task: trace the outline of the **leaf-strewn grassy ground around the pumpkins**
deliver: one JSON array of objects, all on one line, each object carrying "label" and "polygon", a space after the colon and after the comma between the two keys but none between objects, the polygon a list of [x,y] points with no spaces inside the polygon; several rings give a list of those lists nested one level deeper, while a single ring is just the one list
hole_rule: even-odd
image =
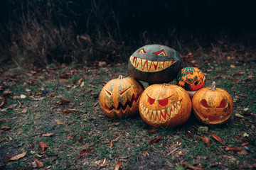
[{"label": "leaf-strewn grassy ground around the pumpkins", "polygon": [[[197,62],[206,74],[206,86],[216,81],[219,88],[230,93],[235,106],[232,120],[225,125],[208,126],[206,132],[200,130],[205,125],[193,115],[185,125],[154,132],[139,116],[107,118],[98,103],[102,84],[119,74],[128,76],[127,64],[87,69],[79,64],[52,64],[48,69],[3,73],[1,102],[6,91],[11,94],[1,108],[0,125],[11,129],[1,130],[1,169],[33,169],[35,159],[43,162],[43,169],[114,169],[117,162],[122,162],[122,169],[252,169],[256,159],[255,60],[251,57],[247,58],[250,62],[243,62],[235,55],[238,62],[219,62],[219,53],[194,54],[206,57]],[[184,64],[190,65],[186,59]],[[68,75],[68,79],[60,79],[63,75]],[[79,86],[80,79],[84,86]],[[21,98],[21,94],[26,98]],[[55,105],[60,99],[70,102]],[[15,106],[8,108],[11,105]],[[63,113],[67,109],[75,111]],[[43,137],[46,133],[54,135]],[[224,144],[210,134],[218,135]],[[159,141],[149,145],[160,136]],[[206,145],[201,137],[208,137],[210,144]],[[113,140],[116,141],[110,146]],[[45,153],[41,153],[38,142],[48,146]],[[226,151],[226,147],[240,148],[241,152]],[[94,150],[78,158],[83,149]],[[4,160],[22,152],[27,154],[21,159]]]}]

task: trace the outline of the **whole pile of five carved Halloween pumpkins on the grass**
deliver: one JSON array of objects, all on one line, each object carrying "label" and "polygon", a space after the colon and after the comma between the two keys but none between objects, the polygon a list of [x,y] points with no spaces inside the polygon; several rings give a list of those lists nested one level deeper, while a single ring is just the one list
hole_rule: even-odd
[{"label": "whole pile of five carved Halloween pumpkins on the grass", "polygon": [[[165,45],[145,45],[129,58],[132,77],[119,76],[100,92],[100,106],[110,118],[141,115],[154,128],[186,123],[193,114],[206,125],[227,122],[233,114],[233,100],[227,91],[203,88],[206,77],[196,67],[183,68],[176,50]],[[169,82],[176,79],[176,84]],[[145,81],[149,86],[139,82]]]}]

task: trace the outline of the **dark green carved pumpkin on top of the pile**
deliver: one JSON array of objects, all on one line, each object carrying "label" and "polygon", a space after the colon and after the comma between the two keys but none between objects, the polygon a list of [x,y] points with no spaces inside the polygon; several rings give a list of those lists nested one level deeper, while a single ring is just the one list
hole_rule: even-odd
[{"label": "dark green carved pumpkin on top of the pile", "polygon": [[183,67],[176,50],[165,45],[145,45],[129,58],[128,70],[134,79],[150,84],[174,80]]}]

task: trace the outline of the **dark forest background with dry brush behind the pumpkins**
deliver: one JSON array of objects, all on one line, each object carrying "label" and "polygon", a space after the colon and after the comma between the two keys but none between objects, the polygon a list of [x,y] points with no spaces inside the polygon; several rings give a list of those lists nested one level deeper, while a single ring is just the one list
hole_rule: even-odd
[{"label": "dark forest background with dry brush behind the pumpkins", "polygon": [[181,54],[213,43],[255,45],[255,7],[253,0],[3,0],[0,63],[127,62],[152,43]]}]

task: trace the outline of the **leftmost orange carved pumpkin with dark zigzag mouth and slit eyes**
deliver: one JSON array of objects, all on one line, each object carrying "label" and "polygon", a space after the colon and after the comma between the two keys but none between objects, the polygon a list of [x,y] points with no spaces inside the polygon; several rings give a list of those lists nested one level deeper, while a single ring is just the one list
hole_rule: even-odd
[{"label": "leftmost orange carved pumpkin with dark zigzag mouth and slit eyes", "polygon": [[112,79],[100,92],[100,107],[110,118],[127,118],[138,113],[144,87],[131,77]]}]

